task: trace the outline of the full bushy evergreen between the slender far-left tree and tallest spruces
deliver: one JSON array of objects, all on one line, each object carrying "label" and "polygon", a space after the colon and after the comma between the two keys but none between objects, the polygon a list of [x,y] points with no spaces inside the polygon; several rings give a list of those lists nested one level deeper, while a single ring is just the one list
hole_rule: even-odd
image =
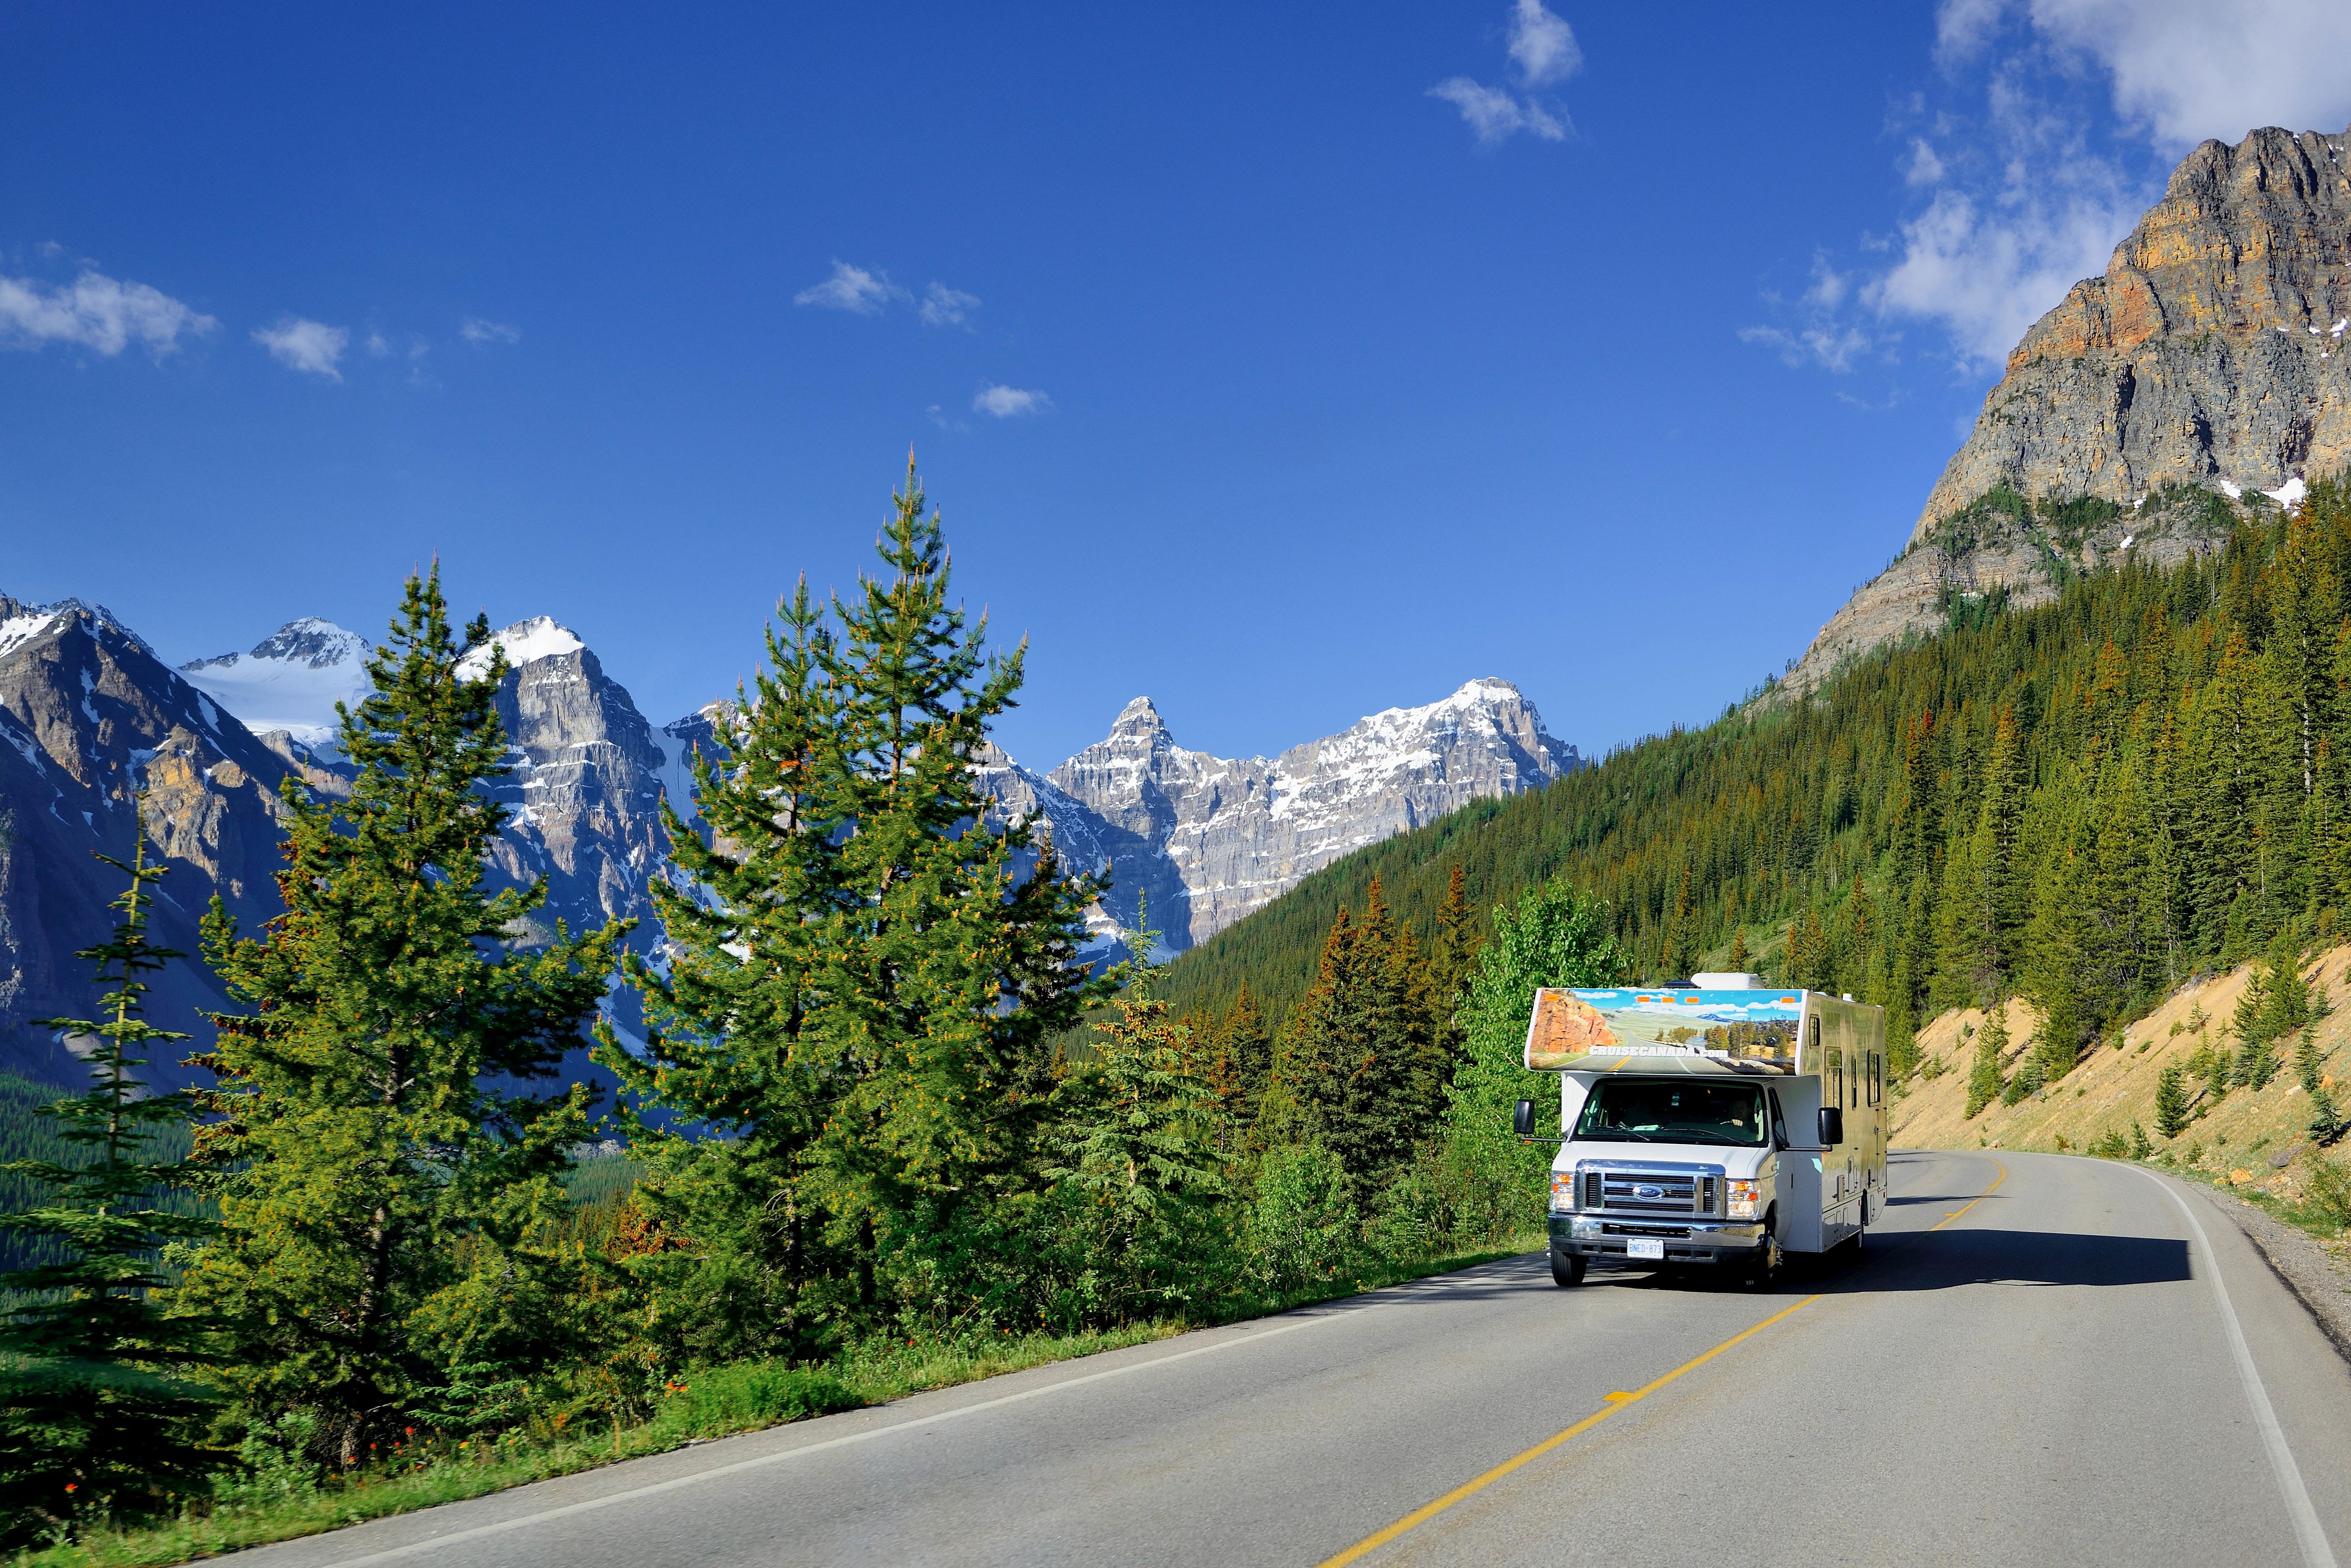
[{"label": "full bushy evergreen between the slender far-left tree and tallest spruces", "polygon": [[501,950],[545,884],[491,893],[505,809],[503,651],[468,677],[440,571],[409,578],[374,691],[346,710],[350,799],[284,785],[287,912],[259,938],[219,898],[205,957],[247,1013],[197,1058],[219,1079],[197,1157],[221,1234],[183,1298],[228,1328],[247,1410],[306,1408],[343,1467],[411,1418],[463,1420],[574,1347],[576,1265],[550,1251],[588,1088],[534,1093],[595,1016],[625,924]]}]

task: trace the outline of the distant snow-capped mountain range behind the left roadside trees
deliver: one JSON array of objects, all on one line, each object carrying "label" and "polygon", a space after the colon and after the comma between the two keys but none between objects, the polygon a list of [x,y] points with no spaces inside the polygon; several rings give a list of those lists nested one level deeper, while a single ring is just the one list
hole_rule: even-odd
[{"label": "distant snow-capped mountain range behind the left roadside trees", "polygon": [[[637,917],[635,940],[656,943],[647,889],[668,865],[661,799],[691,818],[691,748],[710,741],[724,703],[656,731],[557,621],[517,621],[494,642],[510,663],[498,712],[513,745],[496,875],[548,879],[543,933],[555,919]],[[303,618],[245,654],[174,670],[103,607],[0,597],[0,1067],[71,1077],[66,1046],[28,1020],[87,1009],[73,950],[103,936],[118,891],[89,851],[129,853],[141,785],[172,865],[160,940],[193,954],[214,891],[247,929],[275,914],[277,785],[296,773],[348,790],[334,705],[367,693],[367,656],[364,637]],[[473,663],[484,668],[487,651]],[[1110,907],[1091,914],[1093,952],[1112,957],[1138,898],[1164,945],[1183,950],[1352,849],[1578,766],[1516,686],[1479,679],[1272,759],[1185,750],[1136,698],[1100,745],[1051,773],[992,752],[983,780],[1004,813],[1039,818],[1065,860],[1112,875]],[[174,964],[155,1001],[167,1027],[223,1004],[195,964]]]}]

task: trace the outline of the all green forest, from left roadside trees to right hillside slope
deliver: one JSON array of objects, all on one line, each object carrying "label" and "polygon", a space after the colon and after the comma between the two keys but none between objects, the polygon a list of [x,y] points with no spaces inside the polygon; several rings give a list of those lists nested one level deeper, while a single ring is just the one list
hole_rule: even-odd
[{"label": "all green forest, from left roadside trees to right hillside slope", "polygon": [[[287,783],[282,917],[216,905],[167,952],[162,870],[120,867],[92,1016],[49,1020],[92,1084],[9,1133],[0,1544],[240,1544],[889,1396],[917,1354],[976,1375],[1521,1244],[1538,985],[1763,969],[1883,1001],[1897,1070],[1935,1011],[2027,997],[2015,1093],[2252,954],[2241,1034],[2283,1039],[2351,893],[2351,496],[2179,491],[2149,501],[2193,520],[2179,567],[1954,597],[1817,691],[1093,976],[1105,884],[976,792],[1020,651],[950,599],[924,505],[910,470],[879,571],[778,607],[696,762],[710,832],[670,816],[658,961],[623,924],[513,943],[545,889],[484,879],[503,661],[463,672],[489,628],[437,576],[346,717],[350,797]],[[2088,517],[1994,494],[1928,548],[1996,512]],[[235,1009],[181,1044],[141,997],[195,961]],[[560,1077],[583,1034],[616,1103]],[[190,1051],[202,1091],[146,1088]]]}]

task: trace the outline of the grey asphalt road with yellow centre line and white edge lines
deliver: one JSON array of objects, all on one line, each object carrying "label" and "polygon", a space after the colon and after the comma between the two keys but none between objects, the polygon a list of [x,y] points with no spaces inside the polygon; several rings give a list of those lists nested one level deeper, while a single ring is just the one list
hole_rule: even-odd
[{"label": "grey asphalt road with yellow centre line and white edge lines", "polygon": [[1516,1258],[237,1561],[2285,1568],[2330,1540],[2351,1373],[2219,1208],[2095,1159],[1895,1154],[1862,1258],[1768,1295]]}]

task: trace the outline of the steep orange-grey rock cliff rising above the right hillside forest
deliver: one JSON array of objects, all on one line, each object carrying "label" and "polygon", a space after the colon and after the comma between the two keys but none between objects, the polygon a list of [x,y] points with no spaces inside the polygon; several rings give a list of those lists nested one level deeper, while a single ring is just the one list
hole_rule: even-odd
[{"label": "steep orange-grey rock cliff rising above the right hillside forest", "polygon": [[[1822,628],[1791,684],[1940,628],[1954,599],[2034,604],[2123,550],[2172,562],[2210,548],[2215,512],[2186,489],[2290,505],[2344,468],[2351,132],[2205,141],[2106,273],[2008,355],[1909,548]],[[2062,512],[2081,501],[2109,505]]]}]

